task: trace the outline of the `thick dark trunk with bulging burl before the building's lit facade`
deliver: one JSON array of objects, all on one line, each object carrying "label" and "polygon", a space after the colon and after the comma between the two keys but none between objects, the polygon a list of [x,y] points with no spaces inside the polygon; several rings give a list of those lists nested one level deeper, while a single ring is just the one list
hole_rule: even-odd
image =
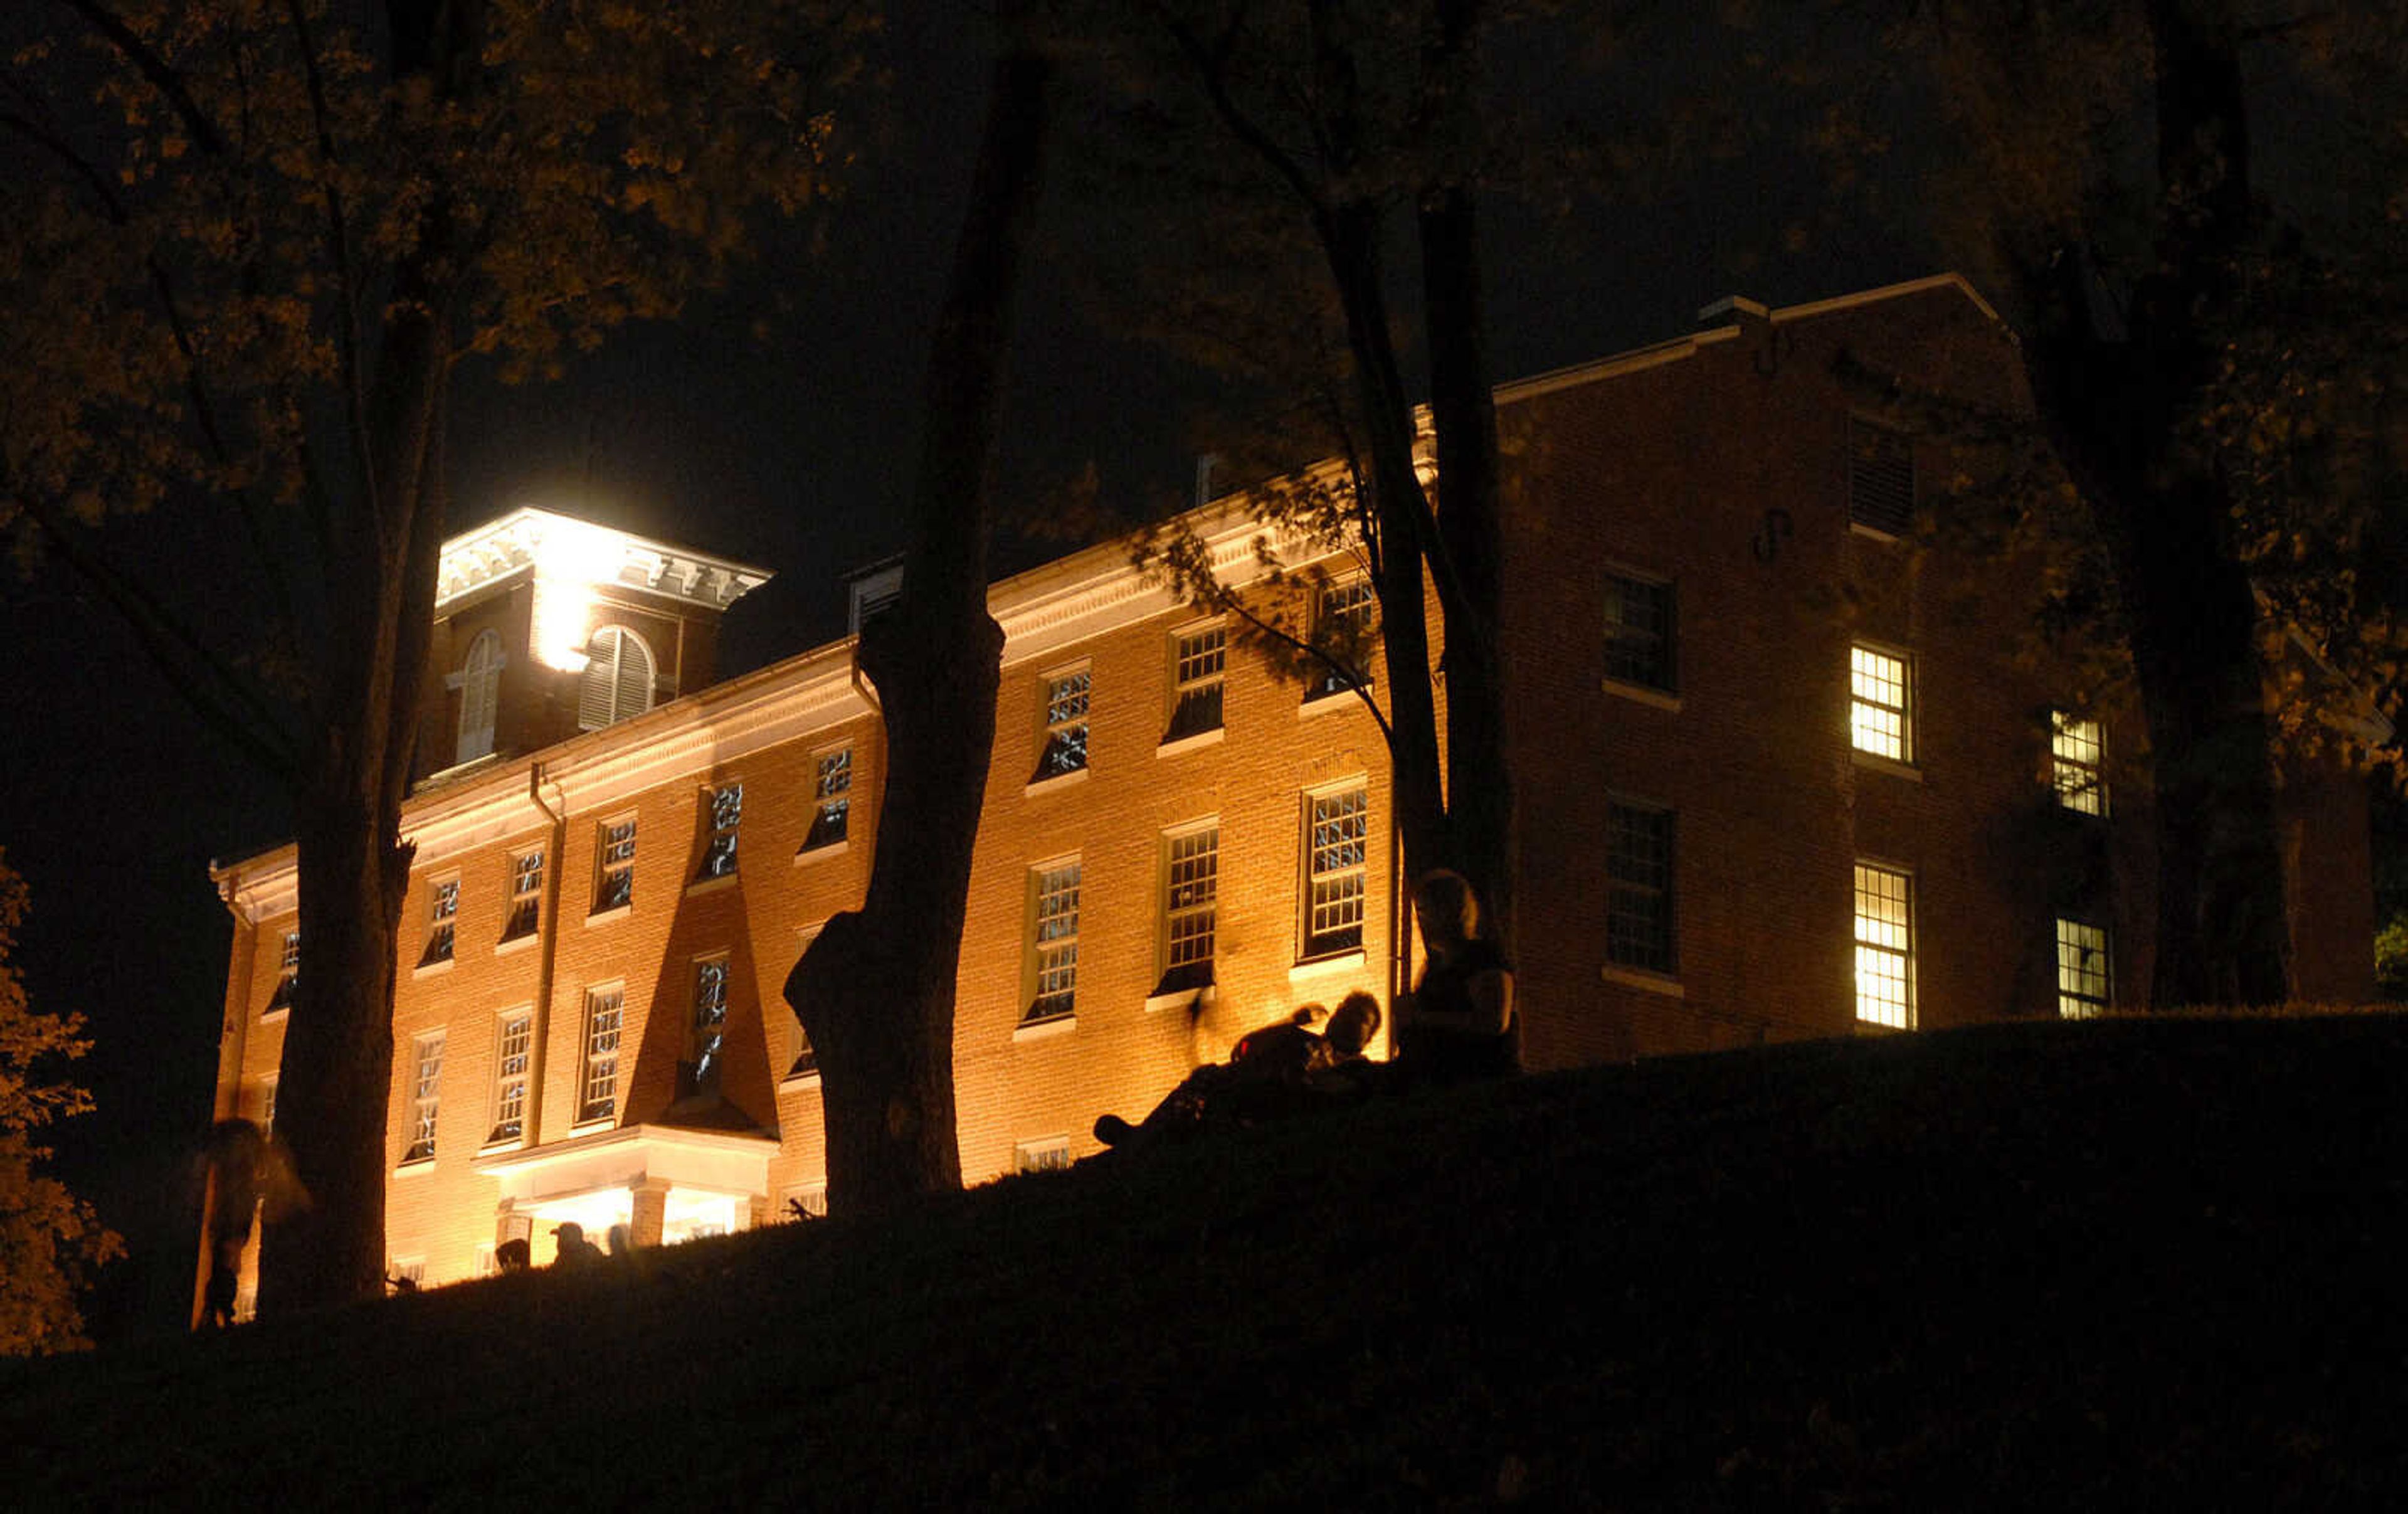
[{"label": "thick dark trunk with bulging burl before the building's lit facade", "polygon": [[1050,65],[1007,19],[929,351],[903,597],[860,645],[889,753],[869,895],[828,922],[785,982],[826,1088],[831,1213],[961,1187],[954,987],[1004,650],[987,614],[987,474],[1043,185],[1047,82]]}]

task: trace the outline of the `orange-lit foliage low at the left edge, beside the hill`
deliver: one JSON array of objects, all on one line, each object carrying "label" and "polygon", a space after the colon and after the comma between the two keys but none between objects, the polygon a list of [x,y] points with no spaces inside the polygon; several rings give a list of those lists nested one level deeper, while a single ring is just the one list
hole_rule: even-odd
[{"label": "orange-lit foliage low at the left edge, beside the hill", "polygon": [[34,1013],[10,956],[26,915],[26,886],[0,852],[0,1355],[92,1346],[77,1295],[125,1242],[89,1203],[39,1167],[39,1131],[92,1112],[92,1095],[58,1076],[92,1049],[82,1016]]}]

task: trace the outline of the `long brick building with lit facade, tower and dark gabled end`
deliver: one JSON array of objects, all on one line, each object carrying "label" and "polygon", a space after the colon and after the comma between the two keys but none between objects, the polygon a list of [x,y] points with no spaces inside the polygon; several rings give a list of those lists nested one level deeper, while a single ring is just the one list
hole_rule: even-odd
[{"label": "long brick building with lit facade, tower and dark gabled end", "polygon": [[[1531,1066],[2114,1004],[2150,970],[2133,720],[2073,712],[2028,655],[2015,563],[1914,546],[1917,477],[1950,460],[1837,375],[1845,354],[2015,407],[2008,337],[1955,277],[1705,315],[1500,390]],[[1243,498],[1194,525],[1267,607],[1365,614],[1344,554],[1262,580]],[[710,681],[718,614],[761,578],[539,513],[445,549],[441,761],[402,818],[400,1273],[474,1276],[508,1237],[544,1261],[561,1220],[674,1242],[816,1206],[819,1078],[780,984],[862,895],[884,751],[850,638]],[[1243,1030],[1411,972],[1358,696],[1274,676],[1120,542],[990,607],[956,1018],[973,1182],[1084,1155],[1098,1112],[1151,1107]],[[2302,780],[2285,804],[2302,987],[2365,999],[2362,792]],[[265,1119],[306,970],[294,852],[217,881],[238,922],[217,1107]]]}]

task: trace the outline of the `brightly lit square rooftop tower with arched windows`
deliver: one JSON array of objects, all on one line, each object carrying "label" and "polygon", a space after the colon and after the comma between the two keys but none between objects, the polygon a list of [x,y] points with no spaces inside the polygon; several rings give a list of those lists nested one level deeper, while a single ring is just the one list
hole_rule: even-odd
[{"label": "brightly lit square rooftop tower with arched windows", "polygon": [[520,508],[443,544],[419,782],[643,715],[715,676],[768,570]]}]

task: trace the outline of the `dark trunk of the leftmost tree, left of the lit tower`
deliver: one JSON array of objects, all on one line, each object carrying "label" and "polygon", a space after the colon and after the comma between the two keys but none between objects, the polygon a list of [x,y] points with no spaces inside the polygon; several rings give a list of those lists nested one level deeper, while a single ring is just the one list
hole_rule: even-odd
[{"label": "dark trunk of the leftmost tree, left of the lit tower", "polygon": [[[395,72],[455,84],[474,60],[472,10],[397,2]],[[436,197],[395,270],[354,486],[327,520],[335,616],[313,667],[320,749],[294,797],[303,936],[277,1081],[277,1139],[303,1199],[260,1249],[262,1314],[385,1285],[393,975],[412,859],[400,818],[443,551],[453,243]]]}]

